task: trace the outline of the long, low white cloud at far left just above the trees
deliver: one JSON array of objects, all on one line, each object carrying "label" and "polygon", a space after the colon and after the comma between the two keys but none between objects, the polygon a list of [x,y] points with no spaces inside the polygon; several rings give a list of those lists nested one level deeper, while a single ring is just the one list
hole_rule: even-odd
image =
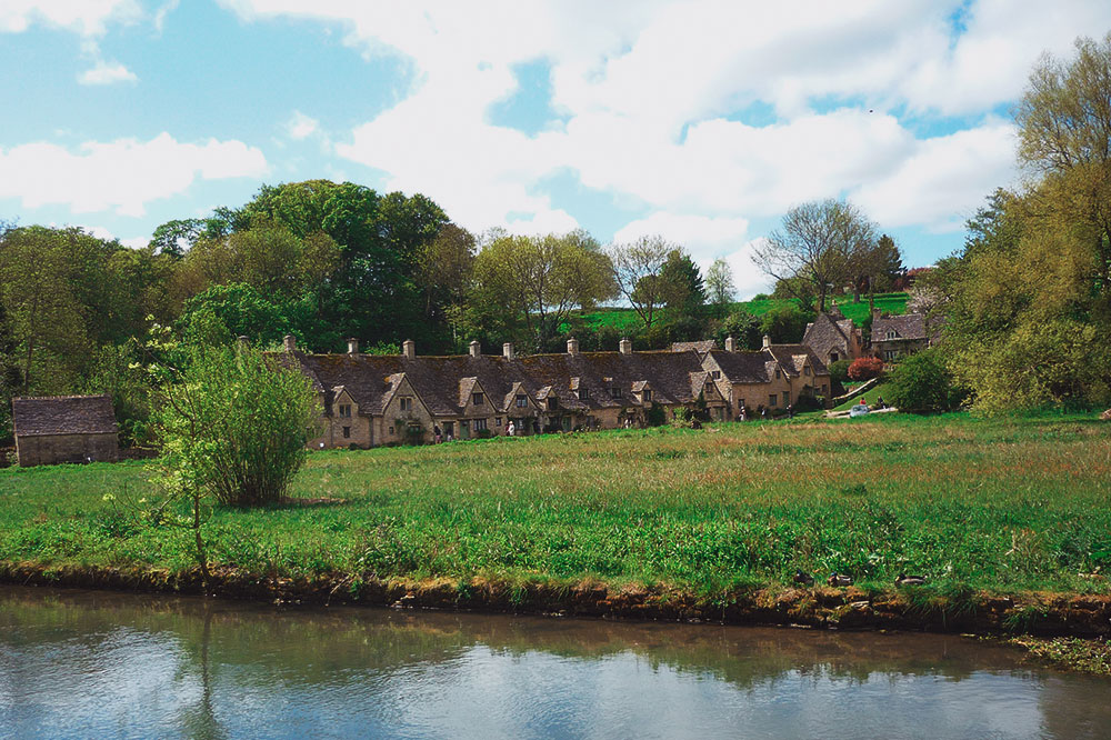
[{"label": "long, low white cloud at far left just above the trees", "polygon": [[60,203],[76,213],[142,216],[148,202],[182,193],[198,178],[266,172],[262,152],[236,140],[182,143],[163,132],[150,141],[87,141],[77,152],[27,143],[0,149],[0,198],[20,199],[24,208]]}]

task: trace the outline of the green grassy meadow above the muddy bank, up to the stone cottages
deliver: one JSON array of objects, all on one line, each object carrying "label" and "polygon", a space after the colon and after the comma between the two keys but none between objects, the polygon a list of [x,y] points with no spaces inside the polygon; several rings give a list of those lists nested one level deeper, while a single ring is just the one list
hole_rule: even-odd
[{"label": "green grassy meadow above the muddy bank, up to the stone cottages", "polygon": [[[188,533],[137,526],[141,463],[0,470],[0,561],[192,567]],[[219,564],[671,586],[713,596],[795,569],[890,587],[1097,591],[1111,571],[1111,424],[890,414],[493,439],[310,456],[294,493],[217,509]],[[106,501],[116,496],[116,502]]]}]

